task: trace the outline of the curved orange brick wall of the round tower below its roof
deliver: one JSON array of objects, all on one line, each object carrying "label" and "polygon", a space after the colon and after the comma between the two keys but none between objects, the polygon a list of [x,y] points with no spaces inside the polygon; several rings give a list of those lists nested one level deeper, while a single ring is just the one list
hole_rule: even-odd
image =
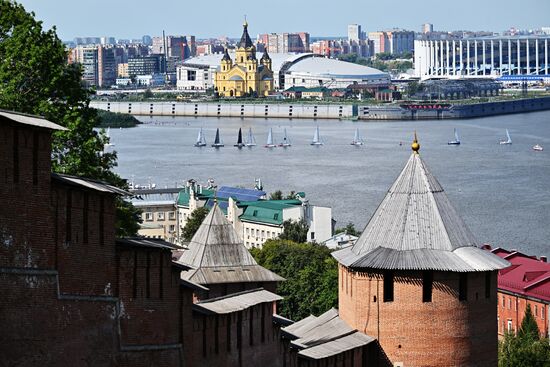
[{"label": "curved orange brick wall of the round tower below its roof", "polygon": [[431,302],[422,273],[395,272],[394,300],[383,301],[381,273],[339,268],[340,317],[377,338],[392,362],[405,366],[496,366],[496,274],[486,298],[486,273],[468,273],[459,301],[459,274],[434,272]]}]

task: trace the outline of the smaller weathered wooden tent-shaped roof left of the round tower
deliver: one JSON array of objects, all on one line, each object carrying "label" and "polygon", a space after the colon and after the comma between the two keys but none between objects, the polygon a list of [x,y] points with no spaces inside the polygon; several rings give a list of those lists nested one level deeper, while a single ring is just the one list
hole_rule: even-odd
[{"label": "smaller weathered wooden tent-shaped roof left of the round tower", "polygon": [[258,265],[215,203],[177,262],[192,270],[182,278],[199,284],[278,282],[277,274]]}]

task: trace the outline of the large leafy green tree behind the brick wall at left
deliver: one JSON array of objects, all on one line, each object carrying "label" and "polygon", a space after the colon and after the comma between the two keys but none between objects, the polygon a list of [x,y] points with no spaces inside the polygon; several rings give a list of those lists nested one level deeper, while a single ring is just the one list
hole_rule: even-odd
[{"label": "large leafy green tree behind the brick wall at left", "polygon": [[[122,189],[127,183],[112,169],[116,152],[104,152],[108,138],[94,130],[91,89],[82,85],[79,65],[67,63],[67,52],[55,27],[44,31],[23,6],[0,0],[0,108],[44,116],[66,127],[52,143],[56,172],[102,180]],[[117,235],[134,235],[139,211],[117,200]]]}]

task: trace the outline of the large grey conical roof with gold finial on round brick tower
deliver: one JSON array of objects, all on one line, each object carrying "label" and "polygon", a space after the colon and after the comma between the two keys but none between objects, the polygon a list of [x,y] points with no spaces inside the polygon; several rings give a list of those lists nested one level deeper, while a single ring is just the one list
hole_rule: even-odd
[{"label": "large grey conical roof with gold finial on round brick tower", "polygon": [[355,243],[333,256],[344,266],[388,270],[489,271],[509,264],[477,247],[443,187],[413,153]]}]

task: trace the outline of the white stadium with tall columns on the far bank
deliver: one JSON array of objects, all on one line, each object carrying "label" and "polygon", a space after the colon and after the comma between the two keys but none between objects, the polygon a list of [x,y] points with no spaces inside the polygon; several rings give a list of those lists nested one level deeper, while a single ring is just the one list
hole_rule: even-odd
[{"label": "white stadium with tall columns on the far bank", "polygon": [[534,35],[416,40],[415,74],[422,79],[548,75],[549,40]]}]

